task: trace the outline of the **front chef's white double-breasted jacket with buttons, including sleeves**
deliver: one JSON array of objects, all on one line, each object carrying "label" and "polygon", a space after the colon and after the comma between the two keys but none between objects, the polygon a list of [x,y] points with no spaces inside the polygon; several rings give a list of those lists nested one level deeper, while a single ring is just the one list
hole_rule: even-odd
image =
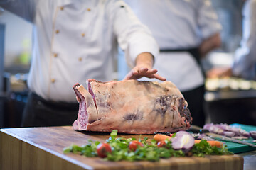
[{"label": "front chef's white double-breasted jacket with buttons, including sleeves", "polygon": [[28,87],[46,100],[75,102],[74,84],[112,80],[117,44],[132,67],[140,53],[159,52],[123,1],[13,0],[3,7],[34,23]]}]

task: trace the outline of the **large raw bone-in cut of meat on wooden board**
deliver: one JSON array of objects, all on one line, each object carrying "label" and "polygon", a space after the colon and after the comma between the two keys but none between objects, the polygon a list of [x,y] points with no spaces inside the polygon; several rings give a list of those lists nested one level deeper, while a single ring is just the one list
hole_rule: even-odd
[{"label": "large raw bone-in cut of meat on wooden board", "polygon": [[79,104],[75,130],[152,134],[187,130],[192,123],[186,100],[170,81],[87,80],[73,86]]}]

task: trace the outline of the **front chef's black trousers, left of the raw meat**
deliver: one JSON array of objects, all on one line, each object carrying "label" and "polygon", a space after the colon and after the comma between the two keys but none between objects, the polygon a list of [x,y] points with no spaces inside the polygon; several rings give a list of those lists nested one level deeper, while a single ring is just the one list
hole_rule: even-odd
[{"label": "front chef's black trousers, left of the raw meat", "polygon": [[78,103],[50,102],[29,93],[21,127],[72,125],[78,118],[78,109]]}]

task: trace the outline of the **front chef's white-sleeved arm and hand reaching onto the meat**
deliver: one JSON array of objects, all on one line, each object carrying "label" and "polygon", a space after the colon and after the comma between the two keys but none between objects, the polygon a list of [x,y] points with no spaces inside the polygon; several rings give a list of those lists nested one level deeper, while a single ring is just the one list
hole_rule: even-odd
[{"label": "front chef's white-sleeved arm and hand reaching onto the meat", "polygon": [[156,74],[156,69],[152,69],[153,56],[159,54],[159,46],[149,28],[139,21],[124,1],[116,1],[110,8],[110,16],[114,15],[113,28],[117,42],[124,50],[127,64],[133,67],[124,79],[149,77],[166,80]]}]

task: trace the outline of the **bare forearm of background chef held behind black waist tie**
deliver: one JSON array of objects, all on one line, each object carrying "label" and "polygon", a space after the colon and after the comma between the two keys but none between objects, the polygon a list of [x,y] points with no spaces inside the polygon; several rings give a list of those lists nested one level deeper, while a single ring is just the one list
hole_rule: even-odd
[{"label": "bare forearm of background chef held behind black waist tie", "polygon": [[199,52],[201,57],[205,57],[208,52],[211,50],[215,50],[221,46],[221,38],[220,33],[215,33],[214,35],[210,36],[203,40],[201,45],[199,46]]}]

